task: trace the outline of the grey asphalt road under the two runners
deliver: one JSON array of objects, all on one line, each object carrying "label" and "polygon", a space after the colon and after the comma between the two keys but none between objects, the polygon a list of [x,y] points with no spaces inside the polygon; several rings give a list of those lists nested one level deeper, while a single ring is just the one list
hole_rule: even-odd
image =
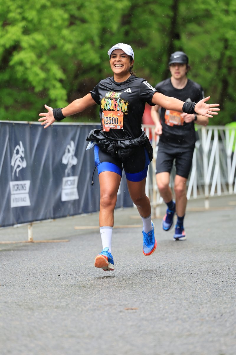
[{"label": "grey asphalt road under the two runners", "polygon": [[98,213],[33,225],[34,241],[59,242],[0,244],[0,354],[235,355],[236,196],[189,201],[186,241],[153,220],[145,257],[137,210],[115,211],[114,272],[93,265]]}]

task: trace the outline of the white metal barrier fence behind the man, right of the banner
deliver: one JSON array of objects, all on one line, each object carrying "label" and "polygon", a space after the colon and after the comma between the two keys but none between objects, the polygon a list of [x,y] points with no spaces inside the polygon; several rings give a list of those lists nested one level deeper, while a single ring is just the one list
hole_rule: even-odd
[{"label": "white metal barrier fence behind the man, right of the banner", "polygon": [[[149,166],[146,193],[156,215],[160,215],[160,197],[156,185],[155,167],[158,154],[158,138],[154,126],[143,125],[152,142],[154,158]],[[197,126],[199,140],[196,141],[192,168],[187,182],[187,198],[205,198],[209,208],[209,197],[236,194],[236,129],[226,126]],[[171,173],[170,186],[173,189],[175,168]]]}]

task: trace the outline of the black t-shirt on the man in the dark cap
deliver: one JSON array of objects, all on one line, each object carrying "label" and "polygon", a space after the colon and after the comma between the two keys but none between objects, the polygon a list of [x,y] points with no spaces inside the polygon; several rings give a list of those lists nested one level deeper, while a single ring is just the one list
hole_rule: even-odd
[{"label": "black t-shirt on the man in the dark cap", "polygon": [[[183,89],[174,88],[170,78],[158,83],[155,89],[161,94],[175,97],[184,102],[198,102],[204,98],[202,87],[189,79]],[[196,141],[194,122],[185,123],[183,119],[180,118],[180,113],[164,108],[161,108],[160,116],[162,135],[160,136],[159,145],[165,145],[166,148],[194,147]]]}]

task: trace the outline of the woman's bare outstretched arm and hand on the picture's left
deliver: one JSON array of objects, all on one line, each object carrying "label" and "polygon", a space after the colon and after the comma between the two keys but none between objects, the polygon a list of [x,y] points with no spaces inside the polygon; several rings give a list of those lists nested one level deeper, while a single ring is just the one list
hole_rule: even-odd
[{"label": "woman's bare outstretched arm and hand on the picture's left", "polygon": [[[96,104],[96,102],[93,100],[91,94],[89,93],[80,99],[74,100],[68,106],[64,107],[62,109],[62,114],[65,117],[71,116],[71,115],[74,115],[78,112],[82,112],[86,108],[91,107],[95,104]],[[56,120],[53,116],[52,107],[47,106],[47,105],[44,105],[44,106],[48,110],[48,112],[40,113],[39,116],[42,116],[42,117],[39,118],[39,121],[42,122],[41,125],[44,125],[44,128],[47,128],[48,126],[52,125],[53,122],[55,122]]]}]

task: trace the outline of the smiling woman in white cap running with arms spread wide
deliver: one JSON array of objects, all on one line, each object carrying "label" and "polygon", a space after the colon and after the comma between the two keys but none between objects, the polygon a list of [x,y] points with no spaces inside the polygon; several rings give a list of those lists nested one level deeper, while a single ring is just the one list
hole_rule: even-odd
[{"label": "smiling woman in white cap running with arms spread wide", "polygon": [[[142,131],[145,103],[177,111],[182,111],[185,103],[162,95],[145,79],[134,75],[134,53],[130,45],[117,43],[109,49],[108,55],[113,77],[101,80],[90,93],[65,108],[52,109],[45,105],[48,112],[40,113],[39,121],[47,128],[55,120],[60,121],[92,105],[100,107],[100,129],[92,130],[87,137],[87,141],[92,141],[89,147],[94,146],[94,162],[100,185],[99,225],[103,250],[96,256],[94,265],[104,271],[113,271],[111,240],[122,170],[125,171],[129,194],[142,218],[143,254],[151,255],[157,245],[151,221],[151,204],[145,193],[148,165],[152,160],[151,144]],[[205,101],[201,100],[196,105],[189,103],[184,108],[185,112],[194,111],[195,107],[202,115],[209,115],[209,110],[211,114],[217,114],[212,111],[219,109]]]}]

